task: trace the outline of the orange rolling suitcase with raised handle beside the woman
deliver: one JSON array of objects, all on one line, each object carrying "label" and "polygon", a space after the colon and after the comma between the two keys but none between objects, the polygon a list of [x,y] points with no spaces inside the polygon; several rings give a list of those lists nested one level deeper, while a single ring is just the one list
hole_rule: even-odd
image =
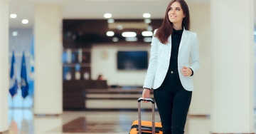
[{"label": "orange rolling suitcase with raised handle beside the woman", "polygon": [[155,114],[155,102],[151,98],[146,98],[145,100],[150,101],[152,103],[152,121],[142,120],[142,112],[140,102],[144,100],[143,98],[138,99],[138,115],[139,120],[134,120],[132,123],[131,130],[129,134],[162,134],[161,123],[155,122],[154,114]]}]

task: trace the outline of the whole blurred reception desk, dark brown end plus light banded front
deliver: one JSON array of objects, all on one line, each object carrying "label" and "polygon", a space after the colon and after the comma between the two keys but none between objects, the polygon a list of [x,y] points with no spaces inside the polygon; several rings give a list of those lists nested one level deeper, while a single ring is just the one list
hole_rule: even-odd
[{"label": "whole blurred reception desk, dark brown end plus light banded front", "polygon": [[[142,88],[108,88],[107,81],[63,83],[64,110],[137,109],[137,99],[140,97],[142,97]],[[152,93],[151,98],[153,98]],[[151,108],[151,105],[142,103],[142,108]]]}]

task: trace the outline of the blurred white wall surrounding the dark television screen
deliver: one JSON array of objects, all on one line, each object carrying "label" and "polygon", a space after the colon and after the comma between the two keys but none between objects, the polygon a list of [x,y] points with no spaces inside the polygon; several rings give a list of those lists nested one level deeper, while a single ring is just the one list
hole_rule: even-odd
[{"label": "blurred white wall surrounding the dark television screen", "polygon": [[[102,74],[107,79],[107,84],[118,86],[143,86],[146,70],[144,71],[118,71],[117,51],[148,51],[149,45],[94,45],[92,46],[91,72],[92,79],[97,79]],[[102,53],[107,52],[107,58],[102,58]]]}]

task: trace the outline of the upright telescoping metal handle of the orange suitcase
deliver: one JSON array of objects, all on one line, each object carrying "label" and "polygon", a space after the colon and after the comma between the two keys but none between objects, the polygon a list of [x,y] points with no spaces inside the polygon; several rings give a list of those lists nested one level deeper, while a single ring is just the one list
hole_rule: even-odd
[{"label": "upright telescoping metal handle of the orange suitcase", "polygon": [[141,111],[141,105],[140,105],[140,102],[142,100],[146,100],[146,101],[150,101],[152,103],[152,134],[155,133],[155,120],[154,120],[154,114],[155,114],[155,103],[154,103],[154,100],[151,99],[151,98],[139,98],[138,99],[138,113],[139,113],[139,134],[142,134],[142,111]]}]

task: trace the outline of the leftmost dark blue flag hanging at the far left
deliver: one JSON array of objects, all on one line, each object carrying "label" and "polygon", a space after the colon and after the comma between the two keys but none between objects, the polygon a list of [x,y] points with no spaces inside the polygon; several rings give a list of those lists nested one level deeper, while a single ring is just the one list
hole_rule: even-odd
[{"label": "leftmost dark blue flag hanging at the far left", "polygon": [[18,83],[16,79],[16,66],[15,66],[15,57],[14,57],[14,51],[11,58],[11,71],[10,71],[10,87],[9,92],[11,93],[11,97],[13,98],[14,95],[16,95],[18,91]]}]

